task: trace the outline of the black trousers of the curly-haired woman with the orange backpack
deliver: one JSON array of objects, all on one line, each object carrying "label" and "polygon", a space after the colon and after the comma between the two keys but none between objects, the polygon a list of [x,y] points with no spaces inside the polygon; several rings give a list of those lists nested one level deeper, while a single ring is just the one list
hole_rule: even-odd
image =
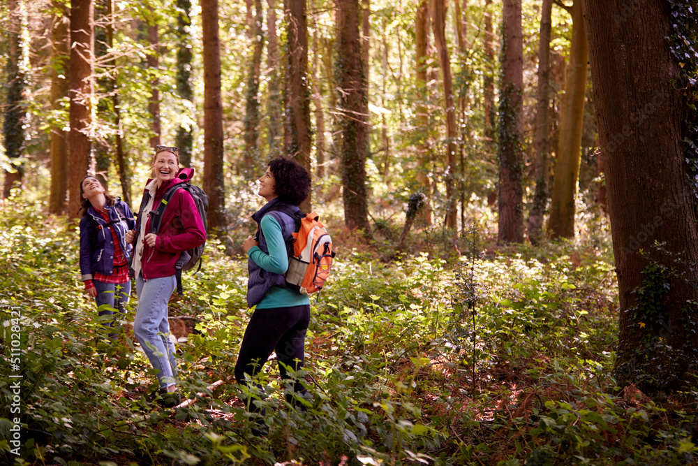
[{"label": "black trousers of the curly-haired woman with the orange backpack", "polygon": [[[309,323],[309,305],[255,310],[242,337],[235,364],[237,383],[246,386],[245,374],[258,374],[272,351],[276,351],[282,379],[289,378],[284,366],[294,371],[300,370],[305,360],[305,336]],[[293,390],[300,394],[306,391],[299,381],[295,382]],[[291,394],[286,395],[288,402],[292,402],[292,398]],[[242,401],[251,412],[260,412],[251,400]],[[260,414],[264,416],[265,413],[262,411]]]}]

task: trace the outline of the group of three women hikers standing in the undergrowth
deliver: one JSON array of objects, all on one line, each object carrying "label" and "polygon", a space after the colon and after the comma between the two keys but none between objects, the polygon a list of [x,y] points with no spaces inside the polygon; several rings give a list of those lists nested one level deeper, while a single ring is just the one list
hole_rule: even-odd
[{"label": "group of three women hikers standing in the undergrowth", "polygon": [[[140,205],[138,221],[126,203],[106,194],[102,184],[87,176],[80,184],[80,271],[87,293],[95,299],[103,325],[112,327],[115,313],[125,313],[131,295],[131,274],[138,293],[133,333],[153,367],[158,370],[160,390],[156,400],[165,407],[181,402],[177,391],[174,344],[168,338],[168,301],[176,286],[175,263],[181,252],[202,245],[206,232],[191,195],[177,189],[166,203],[158,231],[151,232],[151,214],[176,184],[191,180],[194,170],[179,167],[176,147],[156,147]],[[267,200],[253,214],[258,235],[242,245],[248,255],[247,302],[255,307],[240,347],[235,377],[248,386],[248,377],[260,372],[276,351],[281,377],[287,368],[299,370],[304,363],[305,335],[310,321],[310,300],[285,286],[288,245],[294,220],[279,211],[280,205],[297,209],[308,196],[310,176],[290,159],[274,159],[260,178],[258,194]],[[107,330],[110,331],[110,330]],[[110,337],[114,337],[110,333]],[[294,391],[304,393],[296,380]],[[290,395],[289,395],[290,396]],[[252,412],[261,411],[251,397],[243,396]]]}]

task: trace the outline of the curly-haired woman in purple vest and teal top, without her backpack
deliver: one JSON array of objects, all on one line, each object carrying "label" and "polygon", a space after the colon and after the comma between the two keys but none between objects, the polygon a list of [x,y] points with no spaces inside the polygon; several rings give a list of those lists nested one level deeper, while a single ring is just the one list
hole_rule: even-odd
[{"label": "curly-haired woman in purple vest and teal top, without her backpack", "polygon": [[[267,203],[252,218],[257,222],[256,238],[250,236],[242,249],[248,255],[247,304],[255,307],[242,339],[240,354],[235,365],[238,384],[248,386],[247,377],[254,377],[262,370],[267,358],[276,351],[282,379],[290,379],[288,371],[301,370],[304,363],[305,336],[310,322],[310,299],[298,291],[287,288],[283,274],[288,269],[288,256],[292,251],[295,219],[310,189],[310,175],[292,159],[274,159],[267,172],[260,178],[258,194]],[[251,387],[250,387],[251,388]],[[303,384],[295,379],[293,391],[303,395]],[[261,386],[258,386],[261,389]],[[257,435],[265,435],[265,412],[255,405],[255,397],[244,397],[247,409],[262,416],[253,426]],[[259,397],[259,398],[258,398]],[[293,393],[287,393],[293,402]]]}]

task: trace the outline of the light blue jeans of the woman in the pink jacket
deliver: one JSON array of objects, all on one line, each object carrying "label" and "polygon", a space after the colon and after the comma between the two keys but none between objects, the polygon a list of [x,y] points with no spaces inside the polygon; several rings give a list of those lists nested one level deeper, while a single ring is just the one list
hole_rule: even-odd
[{"label": "light blue jeans of the woman in the pink jacket", "polygon": [[138,309],[133,319],[133,333],[150,363],[158,370],[160,388],[175,384],[177,361],[174,361],[174,344],[168,339],[168,301],[177,279],[171,277],[143,279],[138,275],[135,289],[138,291]]}]

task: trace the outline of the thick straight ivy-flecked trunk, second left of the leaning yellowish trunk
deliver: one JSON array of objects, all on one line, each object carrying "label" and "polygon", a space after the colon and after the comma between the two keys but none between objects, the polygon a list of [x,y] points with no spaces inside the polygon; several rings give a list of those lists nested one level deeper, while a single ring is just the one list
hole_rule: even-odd
[{"label": "thick straight ivy-flecked trunk, second left of the leaning yellowish trunk", "polygon": [[523,242],[523,41],[521,0],[504,0],[502,94],[499,104],[498,240]]}]

